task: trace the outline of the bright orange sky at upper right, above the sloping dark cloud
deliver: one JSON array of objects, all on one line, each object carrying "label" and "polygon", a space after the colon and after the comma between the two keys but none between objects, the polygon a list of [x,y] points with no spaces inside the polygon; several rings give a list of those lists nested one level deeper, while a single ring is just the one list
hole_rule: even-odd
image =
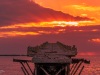
[{"label": "bright orange sky at upper right, above the sloping dark cloud", "polygon": [[86,16],[95,19],[94,24],[100,24],[99,0],[34,0],[41,6],[70,13],[74,16]]}]

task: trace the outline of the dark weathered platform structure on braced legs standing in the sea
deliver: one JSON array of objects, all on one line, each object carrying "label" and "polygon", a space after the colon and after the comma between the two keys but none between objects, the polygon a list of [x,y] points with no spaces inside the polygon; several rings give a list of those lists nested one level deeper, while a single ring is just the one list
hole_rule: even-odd
[{"label": "dark weathered platform structure on braced legs standing in the sea", "polygon": [[[32,57],[32,60],[14,59],[15,62],[22,64],[24,75],[81,75],[84,69],[83,63],[89,64],[86,59],[73,58],[77,55],[75,45],[64,45],[60,42],[48,43],[45,42],[40,46],[27,49],[27,55]],[[35,64],[34,71],[29,66],[28,62]],[[27,65],[28,69],[25,67]],[[30,73],[28,72],[30,71]]]}]

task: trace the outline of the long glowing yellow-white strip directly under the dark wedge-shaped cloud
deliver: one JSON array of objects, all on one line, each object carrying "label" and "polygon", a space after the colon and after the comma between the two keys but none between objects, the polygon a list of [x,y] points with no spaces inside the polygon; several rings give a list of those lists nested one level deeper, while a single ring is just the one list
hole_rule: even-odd
[{"label": "long glowing yellow-white strip directly under the dark wedge-shaped cloud", "polygon": [[11,28],[32,28],[32,27],[66,27],[66,26],[89,26],[93,25],[93,21],[51,21],[40,23],[24,23],[0,27],[0,29]]}]

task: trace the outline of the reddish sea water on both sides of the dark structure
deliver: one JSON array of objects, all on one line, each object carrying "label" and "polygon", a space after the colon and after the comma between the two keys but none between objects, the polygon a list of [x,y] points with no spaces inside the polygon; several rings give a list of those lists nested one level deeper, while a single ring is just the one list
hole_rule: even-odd
[{"label": "reddish sea water on both sides of the dark structure", "polygon": [[[100,56],[80,56],[91,61],[90,65],[85,65],[82,75],[100,75]],[[24,75],[21,65],[13,62],[13,58],[31,59],[26,57],[0,57],[0,75]],[[33,64],[30,64],[32,67]]]}]

